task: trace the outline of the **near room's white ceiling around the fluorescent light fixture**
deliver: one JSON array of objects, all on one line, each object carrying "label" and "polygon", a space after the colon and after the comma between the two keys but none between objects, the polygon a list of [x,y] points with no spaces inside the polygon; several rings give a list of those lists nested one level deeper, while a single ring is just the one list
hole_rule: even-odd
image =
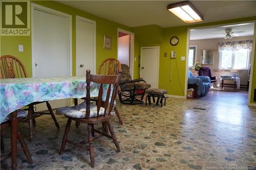
[{"label": "near room's white ceiling around the fluorescent light fixture", "polygon": [[[191,25],[167,10],[168,4],[179,1],[57,1],[96,16],[129,27],[158,25],[162,28]],[[203,15],[214,22],[256,16],[256,1],[190,1]],[[192,23],[193,24],[193,23]],[[194,23],[195,24],[195,23]]]}]

